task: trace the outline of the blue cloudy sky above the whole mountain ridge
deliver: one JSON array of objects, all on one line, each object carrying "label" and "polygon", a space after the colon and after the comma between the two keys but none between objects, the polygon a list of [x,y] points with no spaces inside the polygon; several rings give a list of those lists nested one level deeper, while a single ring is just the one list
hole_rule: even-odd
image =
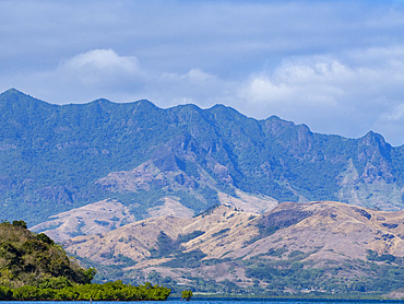
[{"label": "blue cloudy sky above the whole mountain ridge", "polygon": [[224,104],[404,144],[404,1],[0,0],[0,92]]}]

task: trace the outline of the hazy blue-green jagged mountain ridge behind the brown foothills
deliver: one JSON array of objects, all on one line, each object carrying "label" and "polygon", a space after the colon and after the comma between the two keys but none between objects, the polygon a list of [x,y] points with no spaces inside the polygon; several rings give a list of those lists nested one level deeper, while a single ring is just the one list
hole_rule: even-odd
[{"label": "hazy blue-green jagged mountain ridge behind the brown foothills", "polygon": [[[318,135],[223,105],[163,109],[147,101],[98,100],[60,106],[16,90],[0,95],[0,212],[29,225],[104,199],[119,200],[138,220],[167,196],[198,213],[219,202],[218,191],[237,196],[237,189],[278,201],[404,207],[404,145],[373,132]],[[147,162],[170,177],[123,190],[108,182]]]}]

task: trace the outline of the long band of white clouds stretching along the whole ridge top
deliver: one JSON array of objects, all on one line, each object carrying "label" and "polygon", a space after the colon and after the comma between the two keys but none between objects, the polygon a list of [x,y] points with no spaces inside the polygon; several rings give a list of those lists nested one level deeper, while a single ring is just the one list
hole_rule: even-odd
[{"label": "long band of white clouds stretching along the whole ridge top", "polygon": [[278,115],[313,131],[345,137],[375,130],[402,144],[404,46],[288,58],[239,80],[197,67],[183,73],[141,69],[134,56],[95,49],[29,79],[26,92],[49,102],[47,87],[61,92],[67,102],[148,98],[163,107],[224,103],[256,118]]}]

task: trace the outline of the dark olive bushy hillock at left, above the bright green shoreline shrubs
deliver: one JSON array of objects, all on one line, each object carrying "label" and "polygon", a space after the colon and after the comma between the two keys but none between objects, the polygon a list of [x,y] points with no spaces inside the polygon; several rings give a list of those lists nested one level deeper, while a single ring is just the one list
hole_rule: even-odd
[{"label": "dark olive bushy hillock at left, above the bright green shoreline shrubs", "polygon": [[37,285],[50,278],[69,284],[90,283],[95,270],[84,270],[45,234],[33,234],[23,221],[0,223],[0,284]]}]

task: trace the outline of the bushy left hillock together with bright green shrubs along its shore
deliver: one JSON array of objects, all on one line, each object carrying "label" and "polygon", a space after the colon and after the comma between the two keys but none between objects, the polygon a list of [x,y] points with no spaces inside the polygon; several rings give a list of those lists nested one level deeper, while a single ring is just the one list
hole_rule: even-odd
[{"label": "bushy left hillock together with bright green shrubs along its shore", "polygon": [[45,234],[34,234],[24,221],[0,223],[0,301],[4,300],[166,300],[170,290],[118,280],[92,284],[96,271],[83,269]]}]

